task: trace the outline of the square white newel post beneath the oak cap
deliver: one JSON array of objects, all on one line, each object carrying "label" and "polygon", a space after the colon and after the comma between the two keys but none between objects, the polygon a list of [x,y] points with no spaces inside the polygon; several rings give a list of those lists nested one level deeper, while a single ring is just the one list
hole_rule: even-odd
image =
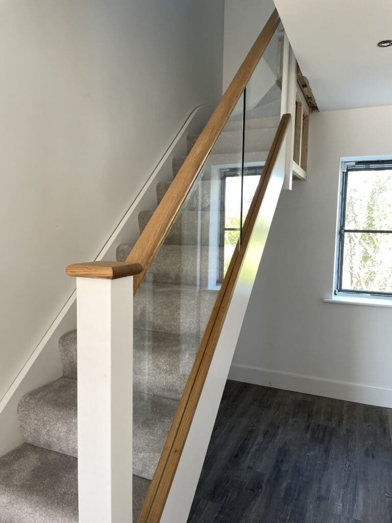
[{"label": "square white newel post beneath the oak cap", "polygon": [[133,276],[76,282],[79,523],[131,523]]}]

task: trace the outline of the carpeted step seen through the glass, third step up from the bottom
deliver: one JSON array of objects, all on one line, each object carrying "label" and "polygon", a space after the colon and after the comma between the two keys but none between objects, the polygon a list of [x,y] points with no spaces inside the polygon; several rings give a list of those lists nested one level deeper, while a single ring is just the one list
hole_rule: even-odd
[{"label": "carpeted step seen through the glass, third step up from the bottom", "polygon": [[199,337],[134,329],[134,391],[180,400],[200,342]]}]

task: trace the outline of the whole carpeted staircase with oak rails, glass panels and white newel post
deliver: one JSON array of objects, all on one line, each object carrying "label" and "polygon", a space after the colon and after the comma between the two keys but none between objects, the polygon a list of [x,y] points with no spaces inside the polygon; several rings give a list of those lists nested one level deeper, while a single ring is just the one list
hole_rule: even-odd
[{"label": "whole carpeted staircase with oak rails, glass panels and white newel post", "polygon": [[[139,516],[140,523],[186,520],[194,490],[185,483],[190,476],[194,488],[197,483],[206,435],[209,438],[212,430],[283,185],[283,143],[290,115],[280,117],[278,78],[246,115],[237,110],[244,109],[240,97],[246,99],[252,72],[278,33],[278,26],[279,16],[274,11],[200,138],[188,136],[187,155],[173,158],[174,182],[156,185],[158,208],[139,213],[141,236],[136,244],[119,245],[117,263],[67,268],[68,275],[78,278],[79,357],[76,331],[68,332],[59,340],[63,376],[26,394],[19,402],[17,416],[25,443],[0,458],[1,523],[76,523],[78,494],[83,523],[90,523],[90,519],[91,523],[92,519],[128,523],[131,457],[133,521]],[[274,49],[278,48],[275,41]],[[264,163],[256,192],[250,195],[248,217],[244,215],[241,222],[243,243],[230,244],[223,239],[223,228],[233,195],[227,196],[223,173],[238,171],[241,190],[234,196],[242,209],[244,166],[257,168],[260,173]],[[221,281],[218,267],[222,267],[226,244],[233,247],[233,254]],[[113,283],[117,278],[118,283]],[[100,301],[96,308],[97,296]],[[235,328],[223,335],[226,346],[222,350],[220,336],[225,332],[232,299],[236,302],[235,311],[231,311]],[[133,319],[131,313],[126,314],[132,308]],[[128,381],[126,370],[132,365],[132,353],[126,341],[131,340],[132,325],[133,377],[130,372]],[[214,359],[215,351],[221,360]],[[91,365],[91,355],[96,353],[98,357]],[[123,361],[128,362],[126,366]],[[210,369],[215,370],[210,373]],[[113,385],[116,376],[122,379]],[[132,386],[133,417],[126,403]],[[96,391],[102,393],[98,399]],[[193,419],[200,405],[199,419],[201,412],[205,417],[195,431]],[[124,427],[126,438],[121,437]],[[199,441],[204,440],[203,444],[186,450],[185,441],[189,437],[194,440],[194,434]],[[112,441],[121,445],[122,453],[113,448]],[[79,477],[78,444],[82,464]],[[133,449],[132,454],[128,447]],[[197,455],[193,470],[188,467],[192,461],[189,452],[194,454],[192,459]],[[183,455],[185,461],[181,462]],[[172,488],[184,470],[183,463],[187,477]],[[170,508],[165,513],[172,492],[177,496],[175,507],[182,510],[181,517],[178,510],[175,517]],[[94,518],[90,517],[92,513]]]}]

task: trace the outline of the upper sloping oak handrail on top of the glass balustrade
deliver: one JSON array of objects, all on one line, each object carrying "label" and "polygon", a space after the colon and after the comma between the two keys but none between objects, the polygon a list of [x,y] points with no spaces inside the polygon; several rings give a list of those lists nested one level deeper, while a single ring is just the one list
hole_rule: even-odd
[{"label": "upper sloping oak handrail on top of the glass balustrade", "polygon": [[127,262],[139,263],[143,267],[140,274],[135,275],[133,279],[134,294],[137,292],[137,289],[139,289],[146,272],[165,241],[207,157],[211,153],[217,139],[220,137],[253,71],[255,71],[261,56],[278,28],[279,22],[280,18],[275,9],[247,54],[244,62],[239,67],[220,103],[206,123],[206,126],[192,147],[185,162],[170,184],[162,201],[159,203],[139,239],[136,241],[131,253],[126,258]]}]

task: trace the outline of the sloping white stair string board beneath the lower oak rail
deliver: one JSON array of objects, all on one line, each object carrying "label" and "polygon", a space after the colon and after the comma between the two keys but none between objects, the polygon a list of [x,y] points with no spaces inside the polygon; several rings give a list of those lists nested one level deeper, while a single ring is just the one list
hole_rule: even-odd
[{"label": "sloping white stair string board beneath the lower oak rail", "polygon": [[250,293],[282,190],[284,169],[285,150],[282,147],[261,204],[233,298],[227,311],[160,523],[173,523],[174,521],[186,523],[188,519]]}]

